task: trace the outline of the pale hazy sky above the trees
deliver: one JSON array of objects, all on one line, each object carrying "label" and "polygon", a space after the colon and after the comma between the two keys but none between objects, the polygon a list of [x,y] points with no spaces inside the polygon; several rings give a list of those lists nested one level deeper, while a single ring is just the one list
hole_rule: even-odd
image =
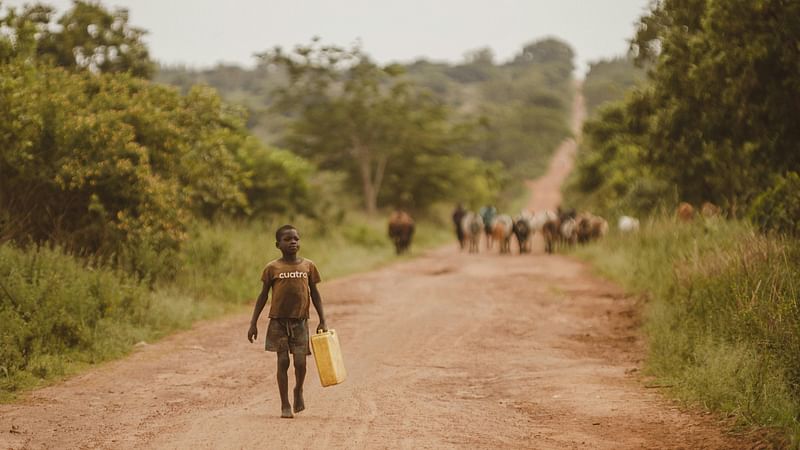
[{"label": "pale hazy sky above the trees", "polygon": [[[20,6],[30,0],[0,0]],[[71,0],[44,0],[59,13]],[[123,7],[149,32],[153,58],[166,64],[250,66],[253,54],[291,48],[313,36],[349,46],[360,40],[377,61],[425,57],[450,63],[492,49],[499,62],[525,43],[557,37],[588,62],[622,55],[650,0],[103,0]]]}]

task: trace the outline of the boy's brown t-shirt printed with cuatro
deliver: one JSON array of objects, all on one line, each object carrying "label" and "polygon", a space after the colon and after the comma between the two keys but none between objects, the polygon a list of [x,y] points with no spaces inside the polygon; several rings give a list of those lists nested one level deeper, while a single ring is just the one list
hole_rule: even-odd
[{"label": "boy's brown t-shirt printed with cuatro", "polygon": [[272,289],[270,318],[307,319],[311,305],[311,288],[308,282],[320,282],[319,271],[310,259],[300,258],[296,263],[281,259],[270,261],[261,274],[261,281]]}]

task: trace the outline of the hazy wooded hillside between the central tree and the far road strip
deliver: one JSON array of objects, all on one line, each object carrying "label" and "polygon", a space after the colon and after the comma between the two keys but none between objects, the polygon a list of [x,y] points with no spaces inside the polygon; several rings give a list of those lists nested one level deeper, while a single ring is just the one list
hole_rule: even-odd
[{"label": "hazy wooded hillside between the central tree and the far road strip", "polygon": [[[408,66],[408,77],[427,87],[472,124],[465,155],[502,163],[515,178],[544,172],[552,151],[571,134],[572,49],[556,39],[523,46],[505,64],[486,51],[467,54],[451,67],[427,61]],[[478,79],[453,76],[453,69],[480,69]]]}]

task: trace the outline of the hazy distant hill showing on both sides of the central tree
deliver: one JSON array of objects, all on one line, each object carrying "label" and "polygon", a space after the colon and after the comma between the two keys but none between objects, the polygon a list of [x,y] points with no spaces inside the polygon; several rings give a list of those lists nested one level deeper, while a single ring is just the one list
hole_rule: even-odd
[{"label": "hazy distant hill showing on both sides of the central tree", "polygon": [[[409,82],[456,112],[473,139],[467,156],[500,161],[512,173],[541,173],[553,149],[569,136],[574,52],[557,39],[523,46],[510,61],[498,63],[489,49],[467,54],[459,64],[420,59],[403,65]],[[216,88],[227,101],[247,108],[248,128],[270,144],[280,144],[287,117],[275,111],[272,92],[283,74],[259,65],[245,69],[162,66],[155,81],[183,91],[195,84]]]}]

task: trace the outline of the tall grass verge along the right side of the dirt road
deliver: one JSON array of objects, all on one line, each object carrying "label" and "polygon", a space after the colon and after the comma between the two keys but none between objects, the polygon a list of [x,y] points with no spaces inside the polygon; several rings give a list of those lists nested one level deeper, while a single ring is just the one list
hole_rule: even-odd
[{"label": "tall grass verge along the right side of the dirt road", "polygon": [[800,443],[800,244],[661,218],[577,254],[647,298],[646,370],[679,398]]}]

